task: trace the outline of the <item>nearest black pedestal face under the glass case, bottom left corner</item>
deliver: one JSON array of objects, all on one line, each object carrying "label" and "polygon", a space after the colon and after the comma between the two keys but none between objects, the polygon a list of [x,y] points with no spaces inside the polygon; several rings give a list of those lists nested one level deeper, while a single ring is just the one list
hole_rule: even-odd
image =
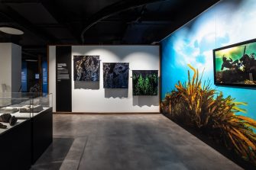
[{"label": "nearest black pedestal face under the glass case, bottom left corner", "polygon": [[0,162],[1,169],[31,167],[31,120],[24,120],[0,133]]}]

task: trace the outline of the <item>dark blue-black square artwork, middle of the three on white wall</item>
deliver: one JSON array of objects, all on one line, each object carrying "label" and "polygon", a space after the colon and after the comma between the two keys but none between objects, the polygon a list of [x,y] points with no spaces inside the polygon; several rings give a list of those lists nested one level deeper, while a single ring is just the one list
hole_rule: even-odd
[{"label": "dark blue-black square artwork, middle of the three on white wall", "polygon": [[129,63],[103,63],[104,88],[128,88]]}]

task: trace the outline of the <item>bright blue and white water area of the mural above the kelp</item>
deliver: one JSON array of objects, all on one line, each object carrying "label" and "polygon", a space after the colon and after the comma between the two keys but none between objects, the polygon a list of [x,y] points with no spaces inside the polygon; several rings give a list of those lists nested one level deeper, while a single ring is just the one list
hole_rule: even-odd
[{"label": "bright blue and white water area of the mural above the kelp", "polygon": [[[215,86],[212,50],[256,38],[256,2],[254,0],[225,0],[209,8],[190,23],[180,27],[161,42],[161,96],[174,85],[187,80],[190,64],[203,72],[203,81],[231,95],[236,101],[248,103],[248,117],[256,120],[256,88]],[[256,50],[255,50],[256,53]]]}]

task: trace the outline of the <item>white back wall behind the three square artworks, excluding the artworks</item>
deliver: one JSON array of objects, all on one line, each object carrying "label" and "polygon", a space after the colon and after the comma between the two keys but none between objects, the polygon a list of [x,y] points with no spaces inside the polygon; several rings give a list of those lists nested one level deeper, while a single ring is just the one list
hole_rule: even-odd
[{"label": "white back wall behind the three square artworks, excluding the artworks", "polygon": [[[73,81],[73,56],[99,56],[99,82]],[[157,96],[132,95],[132,70],[159,70],[158,46],[73,46],[72,47],[72,111],[86,113],[159,113]],[[56,98],[56,47],[49,47],[49,91]],[[103,88],[103,63],[129,63],[128,88]],[[63,91],[65,92],[65,91]],[[55,103],[53,103],[53,111]]]}]

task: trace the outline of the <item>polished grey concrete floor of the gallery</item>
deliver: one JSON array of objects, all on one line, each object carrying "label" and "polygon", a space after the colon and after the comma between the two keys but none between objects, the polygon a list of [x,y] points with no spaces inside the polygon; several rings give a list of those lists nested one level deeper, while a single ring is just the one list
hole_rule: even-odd
[{"label": "polished grey concrete floor of the gallery", "polygon": [[161,114],[53,115],[31,169],[242,169]]}]

